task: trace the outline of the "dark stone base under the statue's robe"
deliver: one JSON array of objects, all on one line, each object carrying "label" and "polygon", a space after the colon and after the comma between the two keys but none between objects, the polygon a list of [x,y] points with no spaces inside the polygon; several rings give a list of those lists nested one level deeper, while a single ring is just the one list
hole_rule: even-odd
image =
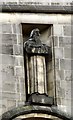
[{"label": "dark stone base under the statue's robe", "polygon": [[48,95],[40,93],[32,93],[28,97],[27,103],[33,105],[43,105],[43,106],[52,106],[54,105],[54,98]]}]

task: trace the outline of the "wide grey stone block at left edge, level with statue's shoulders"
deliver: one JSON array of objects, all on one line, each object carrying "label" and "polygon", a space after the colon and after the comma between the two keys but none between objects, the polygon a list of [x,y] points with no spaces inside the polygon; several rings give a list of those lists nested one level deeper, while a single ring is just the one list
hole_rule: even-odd
[{"label": "wide grey stone block at left edge, level with statue's shoulders", "polygon": [[0,34],[0,41],[5,44],[16,44],[17,43],[17,36],[15,34]]}]

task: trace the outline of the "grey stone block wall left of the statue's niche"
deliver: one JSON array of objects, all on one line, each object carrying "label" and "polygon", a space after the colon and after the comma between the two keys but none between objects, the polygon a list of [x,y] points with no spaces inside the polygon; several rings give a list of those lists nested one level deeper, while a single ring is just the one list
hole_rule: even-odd
[{"label": "grey stone block wall left of the statue's niche", "polygon": [[[2,23],[0,35],[0,100],[5,112],[25,101],[23,41],[19,24]],[[0,108],[1,110],[1,108]],[[1,113],[1,112],[0,112]]]}]

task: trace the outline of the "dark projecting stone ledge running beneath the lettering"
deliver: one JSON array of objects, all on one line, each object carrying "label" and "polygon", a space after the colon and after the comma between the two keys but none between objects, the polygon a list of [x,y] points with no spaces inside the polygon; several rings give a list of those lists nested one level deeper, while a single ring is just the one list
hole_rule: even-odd
[{"label": "dark projecting stone ledge running beneath the lettering", "polygon": [[31,12],[31,13],[73,13],[73,6],[35,5],[35,4],[0,4],[2,12]]}]

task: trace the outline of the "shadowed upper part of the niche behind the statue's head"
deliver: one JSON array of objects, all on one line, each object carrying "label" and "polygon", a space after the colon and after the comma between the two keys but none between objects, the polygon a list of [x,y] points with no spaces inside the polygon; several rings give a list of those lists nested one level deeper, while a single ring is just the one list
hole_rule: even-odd
[{"label": "shadowed upper part of the niche behind the statue's head", "polygon": [[40,30],[40,39],[46,43],[49,36],[51,36],[51,26],[48,24],[22,24],[22,33],[24,42],[28,40],[31,30],[38,28]]}]

